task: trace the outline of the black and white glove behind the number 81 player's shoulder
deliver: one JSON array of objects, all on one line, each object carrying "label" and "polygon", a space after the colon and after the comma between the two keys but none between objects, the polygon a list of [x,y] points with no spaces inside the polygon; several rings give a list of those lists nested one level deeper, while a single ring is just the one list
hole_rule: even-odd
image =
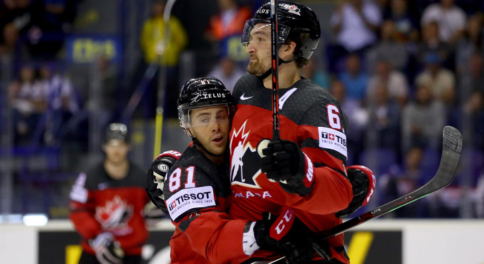
[{"label": "black and white glove behind the number 81 player's shoulder", "polygon": [[146,193],[151,202],[165,213],[168,213],[163,197],[163,185],[166,172],[170,170],[171,166],[173,166],[180,156],[181,153],[178,151],[165,151],[151,162],[150,168],[148,169],[148,172],[146,172]]}]

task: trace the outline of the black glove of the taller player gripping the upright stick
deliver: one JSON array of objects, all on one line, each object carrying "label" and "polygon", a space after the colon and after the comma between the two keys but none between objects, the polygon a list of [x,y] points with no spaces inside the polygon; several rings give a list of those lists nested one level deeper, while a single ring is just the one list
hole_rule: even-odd
[{"label": "black glove of the taller player gripping the upright stick", "polygon": [[295,142],[271,141],[262,149],[260,162],[261,170],[267,174],[267,179],[279,182],[286,192],[305,196],[313,190],[313,163]]}]

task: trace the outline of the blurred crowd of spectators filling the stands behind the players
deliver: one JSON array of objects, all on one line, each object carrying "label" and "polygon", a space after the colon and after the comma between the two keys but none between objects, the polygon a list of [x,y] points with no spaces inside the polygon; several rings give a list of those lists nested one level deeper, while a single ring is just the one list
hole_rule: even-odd
[{"label": "blurred crowd of spectators filling the stands behind the players", "polygon": [[[83,109],[89,107],[80,96],[86,87],[73,85],[62,64],[48,61],[62,58],[80,2],[1,1],[0,56],[16,54],[41,61],[18,66],[17,77],[8,85],[16,145],[32,140],[55,145],[79,133],[76,127],[80,117],[86,117]],[[197,63],[202,65],[196,70],[198,76],[215,76],[231,90],[246,72],[248,57],[240,36],[244,22],[266,1],[213,2],[217,4],[213,14],[197,22],[204,27],[201,40],[190,34],[188,18],[174,12],[165,25],[166,2],[150,2],[151,15],[138,36],[139,67],[128,89],[136,95],[135,87],[146,84],[146,89],[139,89],[140,105],[150,113],[144,118],[155,113],[160,66],[166,70],[165,115],[176,117],[180,56],[194,49],[191,43],[208,43],[209,48],[197,54],[211,56]],[[465,142],[452,186],[397,210],[394,216],[484,217],[484,2],[346,0],[332,4],[331,16],[320,16],[322,28],[330,31],[322,32],[319,52],[302,76],[328,89],[348,116],[348,164],[364,164],[376,171],[379,186],[374,200],[386,203],[430,180],[440,160],[442,129],[455,126]],[[170,32],[168,43],[165,29]],[[102,57],[98,63],[99,89],[106,100],[102,123],[120,121],[114,119],[122,114],[114,112],[126,102],[114,99],[119,76]],[[74,138],[86,141],[85,135]],[[466,214],[461,211],[464,203],[471,208]]]}]

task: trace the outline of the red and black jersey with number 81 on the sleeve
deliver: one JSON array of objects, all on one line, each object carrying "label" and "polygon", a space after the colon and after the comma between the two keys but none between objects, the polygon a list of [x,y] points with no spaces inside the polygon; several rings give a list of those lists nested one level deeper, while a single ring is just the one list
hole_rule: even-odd
[{"label": "red and black jersey with number 81 on the sleeve", "polygon": [[230,220],[226,213],[231,194],[228,163],[214,164],[191,146],[166,175],[163,195],[175,225],[171,263],[228,263],[245,256],[247,220]]}]

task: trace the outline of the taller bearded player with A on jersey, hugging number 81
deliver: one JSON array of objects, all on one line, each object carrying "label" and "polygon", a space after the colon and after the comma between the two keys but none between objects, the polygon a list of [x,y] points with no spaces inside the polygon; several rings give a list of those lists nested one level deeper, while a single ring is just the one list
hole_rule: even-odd
[{"label": "taller bearded player with A on jersey, hugging number 81", "polygon": [[[233,90],[237,112],[232,121],[229,151],[230,171],[237,174],[230,175],[233,195],[229,215],[257,221],[262,219],[262,212],[278,214],[289,207],[307,227],[319,232],[340,224],[338,216],[354,209],[348,211],[348,205],[365,204],[373,191],[367,189],[354,195],[358,188],[352,188],[346,168],[347,117],[329,93],[300,76],[320,39],[316,14],[289,1],[279,1],[277,14],[281,140],[272,141],[258,153],[259,142],[270,139],[273,131],[267,3],[246,22],[242,39],[250,62],[249,73],[238,80]],[[367,188],[369,183],[373,187],[371,171],[360,172],[367,178]],[[316,261],[349,263],[342,234],[327,242],[330,250],[325,259],[316,257]],[[273,253],[258,250],[250,257],[272,259]],[[250,257],[232,261],[242,262]]]}]

